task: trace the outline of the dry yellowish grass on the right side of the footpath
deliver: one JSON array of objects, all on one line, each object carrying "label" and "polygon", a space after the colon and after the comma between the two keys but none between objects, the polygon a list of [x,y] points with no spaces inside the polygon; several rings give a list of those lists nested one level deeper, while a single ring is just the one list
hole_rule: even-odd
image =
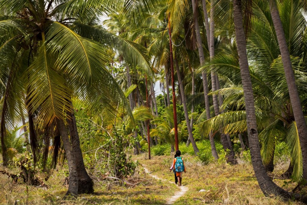
[{"label": "dry yellowish grass on the right side of the footpath", "polygon": [[[182,185],[188,186],[189,190],[176,201],[176,204],[300,204],[285,202],[276,197],[265,197],[249,163],[241,161],[240,164],[231,166],[212,162],[204,165],[197,157],[188,154],[183,157],[187,173],[183,174]],[[140,155],[135,159],[146,165],[152,174],[169,181],[174,180],[173,172],[169,172],[172,156],[152,156],[151,160],[146,160],[146,155]],[[286,168],[286,166],[276,166],[274,173],[280,174]],[[274,182],[280,186],[284,181],[274,179]],[[290,183],[286,188],[291,191],[294,186],[294,183]],[[199,192],[201,189],[206,191]]]}]

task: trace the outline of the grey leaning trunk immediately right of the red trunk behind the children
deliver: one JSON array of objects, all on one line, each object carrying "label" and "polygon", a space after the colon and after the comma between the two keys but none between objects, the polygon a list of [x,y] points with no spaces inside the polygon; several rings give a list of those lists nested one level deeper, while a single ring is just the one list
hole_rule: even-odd
[{"label": "grey leaning trunk immediately right of the red trunk behind the children", "polygon": [[185,121],[186,121],[186,124],[187,124],[187,129],[188,129],[188,134],[189,134],[188,138],[191,141],[192,147],[194,149],[194,153],[197,155],[197,153],[199,152],[199,149],[197,148],[197,145],[195,143],[195,140],[194,140],[194,137],[193,137],[193,134],[192,134],[192,128],[191,128],[191,125],[190,125],[187,103],[185,101],[185,90],[184,90],[183,83],[182,83],[182,80],[181,80],[180,69],[179,69],[179,65],[178,65],[178,61],[177,61],[176,57],[174,58],[174,61],[175,61],[175,65],[176,65],[177,77],[178,77],[178,82],[179,82],[179,86],[180,86],[183,110],[185,112]]}]

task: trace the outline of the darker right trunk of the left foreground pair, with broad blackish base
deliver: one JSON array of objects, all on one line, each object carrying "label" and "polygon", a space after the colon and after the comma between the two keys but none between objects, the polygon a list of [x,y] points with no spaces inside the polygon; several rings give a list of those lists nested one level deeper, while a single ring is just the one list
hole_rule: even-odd
[{"label": "darker right trunk of the left foreground pair, with broad blackish base", "polygon": [[67,119],[67,123],[68,123],[68,128],[69,128],[69,135],[72,141],[72,153],[75,156],[77,173],[78,173],[78,178],[79,178],[78,193],[79,194],[94,193],[93,180],[87,174],[87,171],[84,166],[82,151],[80,148],[79,134],[77,130],[77,123],[76,123],[76,118],[75,118],[75,114],[73,113],[73,110],[71,113],[68,113],[68,116],[69,116],[69,119]]}]

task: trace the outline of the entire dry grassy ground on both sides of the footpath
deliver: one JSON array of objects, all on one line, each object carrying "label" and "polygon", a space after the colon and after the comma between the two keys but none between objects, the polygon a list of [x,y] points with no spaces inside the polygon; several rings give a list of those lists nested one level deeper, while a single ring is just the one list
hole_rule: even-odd
[{"label": "entire dry grassy ground on both sides of the footpath", "polygon": [[[178,194],[182,191],[180,187],[170,183],[174,180],[173,172],[169,172],[172,157],[152,156],[147,160],[147,155],[142,154],[133,157],[139,162],[139,168],[126,179],[135,186],[114,179],[95,181],[95,193],[81,194],[77,200],[61,200],[67,190],[65,168],[53,171],[46,182],[48,189],[12,183],[6,175],[0,174],[0,204],[166,204],[172,203],[171,199],[176,195],[179,197],[175,204],[300,204],[265,197],[248,163],[204,165],[195,156],[183,157],[187,173],[182,179],[186,191],[181,194]],[[276,166],[274,173],[278,175],[285,168]],[[282,186],[285,180],[274,179],[274,182]],[[294,186],[294,183],[288,183],[284,188],[290,191]],[[202,189],[205,191],[199,192]]]}]

